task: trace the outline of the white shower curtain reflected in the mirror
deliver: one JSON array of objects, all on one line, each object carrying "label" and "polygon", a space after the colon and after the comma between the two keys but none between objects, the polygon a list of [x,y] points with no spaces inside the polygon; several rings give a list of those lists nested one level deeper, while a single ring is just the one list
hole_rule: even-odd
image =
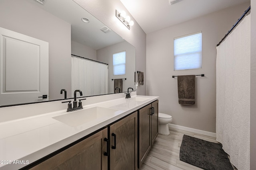
[{"label": "white shower curtain reflected in the mirror", "polygon": [[[81,90],[83,96],[108,93],[108,66],[86,59],[71,57],[72,92]],[[72,97],[74,94],[72,93]]]}]

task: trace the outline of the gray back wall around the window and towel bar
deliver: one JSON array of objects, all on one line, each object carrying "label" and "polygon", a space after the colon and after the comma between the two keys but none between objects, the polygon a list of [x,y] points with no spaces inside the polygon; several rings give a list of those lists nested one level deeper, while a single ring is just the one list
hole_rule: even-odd
[{"label": "gray back wall around the window and towel bar", "polygon": [[[147,34],[146,94],[160,96],[159,111],[172,115],[172,124],[216,132],[216,44],[249,6],[234,6]],[[202,69],[174,71],[174,38],[198,31],[202,31]],[[205,74],[196,77],[194,106],[178,104],[177,78],[172,75],[186,74]]]}]

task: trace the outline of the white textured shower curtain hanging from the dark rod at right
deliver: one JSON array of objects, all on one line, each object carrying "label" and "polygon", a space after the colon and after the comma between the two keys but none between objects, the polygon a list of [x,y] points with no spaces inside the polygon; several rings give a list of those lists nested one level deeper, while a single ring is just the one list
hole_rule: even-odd
[{"label": "white textured shower curtain hanging from the dark rod at right", "polygon": [[217,47],[216,136],[238,170],[250,169],[250,15]]}]

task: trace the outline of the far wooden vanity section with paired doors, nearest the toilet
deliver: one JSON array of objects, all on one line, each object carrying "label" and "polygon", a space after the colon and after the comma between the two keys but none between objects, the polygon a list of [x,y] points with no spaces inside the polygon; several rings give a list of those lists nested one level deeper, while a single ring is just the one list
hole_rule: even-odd
[{"label": "far wooden vanity section with paired doors, nearest the toilet", "polygon": [[138,110],[138,168],[158,135],[158,100]]}]

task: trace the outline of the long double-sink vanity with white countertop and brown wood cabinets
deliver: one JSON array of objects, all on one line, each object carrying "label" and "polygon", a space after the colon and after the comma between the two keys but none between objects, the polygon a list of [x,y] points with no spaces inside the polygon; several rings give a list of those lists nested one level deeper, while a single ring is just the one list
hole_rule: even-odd
[{"label": "long double-sink vanity with white countertop and brown wood cabinets", "polygon": [[70,112],[62,102],[0,108],[1,170],[142,165],[158,135],[158,97],[92,96]]}]

